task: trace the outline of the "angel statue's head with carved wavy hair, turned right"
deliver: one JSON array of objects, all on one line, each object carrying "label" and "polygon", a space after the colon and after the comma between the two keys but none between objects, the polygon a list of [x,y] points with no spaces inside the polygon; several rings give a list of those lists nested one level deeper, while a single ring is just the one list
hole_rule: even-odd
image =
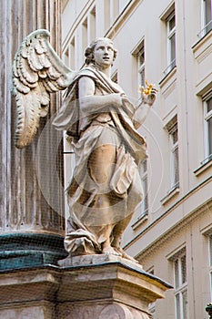
[{"label": "angel statue's head with carved wavy hair, turned right", "polygon": [[108,37],[97,37],[86,48],[86,65],[90,63],[111,66],[116,59],[117,50]]}]

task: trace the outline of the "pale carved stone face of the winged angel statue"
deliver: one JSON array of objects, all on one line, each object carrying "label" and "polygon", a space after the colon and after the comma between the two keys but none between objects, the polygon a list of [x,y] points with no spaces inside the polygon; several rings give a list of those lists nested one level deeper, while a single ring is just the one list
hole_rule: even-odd
[{"label": "pale carved stone face of the winged angel statue", "polygon": [[101,39],[96,43],[94,49],[96,65],[110,67],[114,62],[114,46],[110,40]]}]

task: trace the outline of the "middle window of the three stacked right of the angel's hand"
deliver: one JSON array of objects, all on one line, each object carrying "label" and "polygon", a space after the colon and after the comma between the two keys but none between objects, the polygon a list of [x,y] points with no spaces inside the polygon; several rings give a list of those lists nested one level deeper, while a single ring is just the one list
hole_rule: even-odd
[{"label": "middle window of the three stacked right of the angel's hand", "polygon": [[169,122],[167,130],[169,134],[171,190],[174,190],[179,186],[177,116]]}]

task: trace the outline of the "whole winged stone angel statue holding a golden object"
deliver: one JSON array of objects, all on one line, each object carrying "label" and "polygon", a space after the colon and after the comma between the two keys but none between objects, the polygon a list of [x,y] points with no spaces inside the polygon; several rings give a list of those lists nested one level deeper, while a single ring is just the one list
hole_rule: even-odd
[{"label": "whole winged stone angel statue holding a golden object", "polygon": [[143,198],[139,165],[146,141],[137,129],[156,99],[156,88],[141,87],[136,108],[110,78],[116,59],[113,41],[99,37],[86,48],[85,67],[64,65],[37,30],[20,46],[13,66],[17,104],[15,144],[28,145],[49,94],[66,90],[53,125],[71,136],[76,154],[74,176],[66,190],[70,217],[65,246],[70,255],[108,253],[134,260],[120,247],[121,236]]}]

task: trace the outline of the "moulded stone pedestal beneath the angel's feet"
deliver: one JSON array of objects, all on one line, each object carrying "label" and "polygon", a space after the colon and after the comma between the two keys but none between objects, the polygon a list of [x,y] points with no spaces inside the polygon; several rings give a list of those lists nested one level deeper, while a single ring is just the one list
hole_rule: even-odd
[{"label": "moulded stone pedestal beneath the angel's feet", "polygon": [[168,283],[110,255],[0,273],[0,319],[149,319]]}]

